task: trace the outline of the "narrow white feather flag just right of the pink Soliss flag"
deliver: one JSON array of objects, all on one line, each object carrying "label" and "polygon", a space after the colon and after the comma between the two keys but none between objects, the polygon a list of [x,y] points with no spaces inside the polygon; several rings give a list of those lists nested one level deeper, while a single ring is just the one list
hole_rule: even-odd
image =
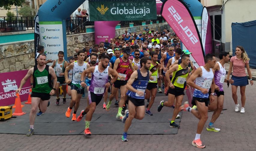
[{"label": "narrow white feather flag just right of the pink Soliss flag", "polygon": [[206,30],[207,30],[207,24],[208,24],[208,13],[207,9],[204,6],[203,7],[203,13],[202,13],[202,44],[203,44],[203,50],[205,52],[205,41],[206,41]]}]

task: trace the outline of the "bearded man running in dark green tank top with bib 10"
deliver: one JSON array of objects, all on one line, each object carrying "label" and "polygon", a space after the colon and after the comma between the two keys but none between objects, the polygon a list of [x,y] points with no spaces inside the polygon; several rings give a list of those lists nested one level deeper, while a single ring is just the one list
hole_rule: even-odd
[{"label": "bearded man running in dark green tank top with bib 10", "polygon": [[[19,89],[16,93],[21,91],[26,81],[30,76],[33,76],[33,88],[31,93],[31,111],[29,114],[29,132],[27,136],[32,136],[34,133],[34,123],[38,104],[40,104],[41,112],[45,112],[50,96],[55,93],[57,77],[52,67],[45,65],[46,55],[39,54],[37,57],[37,65],[29,69],[26,76],[21,80]],[[53,78],[53,86],[52,86]]]}]

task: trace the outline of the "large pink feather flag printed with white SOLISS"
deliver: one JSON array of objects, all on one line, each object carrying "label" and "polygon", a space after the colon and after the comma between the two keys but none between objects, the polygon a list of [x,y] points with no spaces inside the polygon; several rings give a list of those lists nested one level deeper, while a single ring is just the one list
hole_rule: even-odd
[{"label": "large pink feather flag printed with white SOLISS", "polygon": [[204,65],[201,37],[186,5],[180,0],[167,0],[163,3],[161,14],[185,47],[192,52],[192,56],[198,65]]}]

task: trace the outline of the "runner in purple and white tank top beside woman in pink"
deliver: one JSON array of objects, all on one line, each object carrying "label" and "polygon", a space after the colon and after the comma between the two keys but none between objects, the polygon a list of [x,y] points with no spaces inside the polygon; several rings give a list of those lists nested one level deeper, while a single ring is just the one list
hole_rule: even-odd
[{"label": "runner in purple and white tank top beside woman in pink", "polygon": [[220,61],[217,62],[213,68],[215,71],[214,74],[214,81],[215,81],[215,101],[209,104],[209,110],[214,111],[212,115],[212,119],[209,123],[209,125],[206,127],[207,131],[213,131],[213,132],[219,132],[220,129],[215,128],[213,126],[213,123],[217,120],[217,118],[220,116],[221,111],[223,109],[223,102],[224,102],[224,89],[223,89],[223,83],[227,82],[230,84],[233,84],[234,81],[232,79],[227,80],[225,79],[226,70],[224,64],[228,62],[229,60],[229,53],[222,51],[219,54]]}]

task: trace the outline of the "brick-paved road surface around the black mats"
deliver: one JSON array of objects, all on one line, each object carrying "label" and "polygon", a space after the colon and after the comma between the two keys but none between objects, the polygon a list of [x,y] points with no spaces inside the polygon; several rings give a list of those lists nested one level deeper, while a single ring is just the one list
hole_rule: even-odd
[{"label": "brick-paved road surface around the black mats", "polygon": [[[231,95],[231,87],[227,88],[227,86],[224,86],[224,108],[227,108],[227,110],[223,111],[223,114],[220,115],[215,123],[215,126],[220,128],[221,131],[208,132],[206,131],[206,129],[203,130],[201,140],[206,145],[206,148],[203,150],[256,150],[256,118],[254,105],[254,100],[256,96],[255,88],[255,85],[246,87],[247,102],[245,105],[245,113],[241,114],[239,112],[234,112],[234,103]],[[184,101],[186,101],[187,97],[185,96],[184,98]],[[51,98],[51,105],[48,107],[47,112],[66,112],[66,109],[68,108],[68,103],[64,105],[61,104],[60,106],[54,106],[53,104],[55,102],[55,99],[56,97]],[[153,105],[153,113],[157,112],[156,107],[158,103],[161,100],[167,100],[167,97],[156,97],[155,100],[157,101]],[[79,108],[79,112],[85,107],[86,104],[84,100],[81,102],[82,105]],[[102,109],[102,103],[103,101],[99,104],[95,113],[106,112],[104,109]],[[26,104],[25,107],[23,107],[23,112],[26,112],[28,114],[29,109],[30,105]],[[168,112],[172,111],[173,109],[171,108],[163,108],[161,112],[166,112],[166,114],[168,114]],[[110,112],[117,112],[117,108],[112,106]],[[211,115],[212,112],[209,112],[209,118],[211,118]],[[200,150],[191,145],[191,142],[195,137],[197,122],[198,120],[190,112],[184,112],[178,134],[128,135],[128,142],[122,142],[121,135],[92,135],[90,137],[85,137],[83,135],[33,135],[31,137],[27,137],[25,135],[0,134],[0,146],[2,151],[193,151]],[[207,124],[208,123],[209,119],[207,121]]]}]

